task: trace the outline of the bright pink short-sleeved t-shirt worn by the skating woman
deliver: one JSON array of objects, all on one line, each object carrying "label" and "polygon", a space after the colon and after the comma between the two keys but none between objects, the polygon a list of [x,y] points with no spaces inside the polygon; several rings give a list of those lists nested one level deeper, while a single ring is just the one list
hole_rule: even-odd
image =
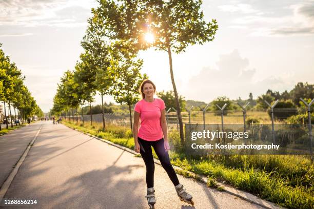
[{"label": "bright pink short-sleeved t-shirt worn by the skating woman", "polygon": [[156,141],[164,137],[160,124],[161,110],[166,108],[162,99],[154,98],[153,102],[141,99],[136,103],[134,111],[140,113],[141,126],[138,136],[147,141]]}]

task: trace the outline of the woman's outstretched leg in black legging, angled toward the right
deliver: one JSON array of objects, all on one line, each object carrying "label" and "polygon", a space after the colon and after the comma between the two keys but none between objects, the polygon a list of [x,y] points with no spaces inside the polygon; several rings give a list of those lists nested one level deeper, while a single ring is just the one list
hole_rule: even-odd
[{"label": "woman's outstretched leg in black legging, angled toward the right", "polygon": [[170,163],[170,158],[168,152],[165,151],[164,147],[164,138],[158,140],[158,141],[153,141],[152,146],[163,166],[165,171],[167,172],[170,180],[172,181],[173,185],[176,186],[179,184],[179,179],[175,174],[175,171]]}]

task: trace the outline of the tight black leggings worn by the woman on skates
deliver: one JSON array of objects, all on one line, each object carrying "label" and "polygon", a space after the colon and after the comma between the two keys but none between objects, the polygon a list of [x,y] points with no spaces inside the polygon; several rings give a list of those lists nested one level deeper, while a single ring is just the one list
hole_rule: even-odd
[{"label": "tight black leggings worn by the woman on skates", "polygon": [[165,151],[164,147],[164,138],[157,140],[157,141],[146,141],[138,137],[138,141],[140,144],[140,153],[142,158],[144,159],[146,165],[146,184],[147,188],[154,187],[154,159],[151,152],[152,146],[157,154],[163,168],[166,170],[170,180],[172,181],[173,185],[176,186],[179,184],[179,179],[175,174],[174,169],[170,163],[168,152]]}]

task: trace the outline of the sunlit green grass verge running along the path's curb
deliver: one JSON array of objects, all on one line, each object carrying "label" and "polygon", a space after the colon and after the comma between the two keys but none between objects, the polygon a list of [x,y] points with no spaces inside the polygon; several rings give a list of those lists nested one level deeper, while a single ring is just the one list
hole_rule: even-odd
[{"label": "sunlit green grass verge running along the path's curb", "polygon": [[[134,149],[134,140],[129,128],[102,123],[66,125],[113,143]],[[176,171],[187,177],[198,179],[188,171],[208,177],[208,186],[223,191],[224,182],[262,199],[287,208],[314,208],[314,166],[305,156],[283,155],[207,155],[186,156],[180,147],[178,132],[168,135],[171,163],[183,171]],[[155,153],[153,152],[156,158]]]}]

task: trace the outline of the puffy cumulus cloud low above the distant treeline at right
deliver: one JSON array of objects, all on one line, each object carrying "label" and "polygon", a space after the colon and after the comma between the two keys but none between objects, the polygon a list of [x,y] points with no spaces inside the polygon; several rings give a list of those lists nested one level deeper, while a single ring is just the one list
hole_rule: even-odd
[{"label": "puffy cumulus cloud low above the distant treeline at right", "polygon": [[[187,99],[211,101],[218,96],[248,98],[265,93],[267,89],[284,91],[293,86],[293,75],[270,75],[254,79],[257,70],[249,67],[249,60],[241,57],[238,50],[220,55],[217,68],[204,67],[198,75],[192,76],[184,92]],[[200,99],[202,98],[202,99]]]}]

